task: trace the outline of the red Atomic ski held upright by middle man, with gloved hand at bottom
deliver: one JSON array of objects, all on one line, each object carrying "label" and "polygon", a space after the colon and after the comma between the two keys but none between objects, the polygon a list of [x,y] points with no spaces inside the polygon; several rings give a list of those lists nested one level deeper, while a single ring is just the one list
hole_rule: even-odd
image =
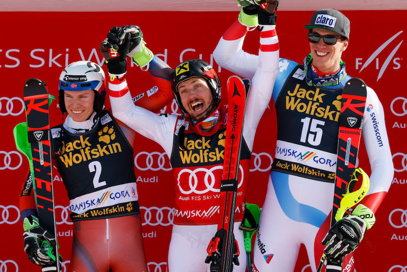
[{"label": "red Atomic ski held upright by middle man, with gloved hand at bottom", "polygon": [[227,80],[226,144],[220,185],[220,212],[218,231],[209,243],[206,263],[211,272],[231,272],[233,264],[239,265],[239,247],[233,228],[235,221],[236,194],[238,191],[239,163],[243,120],[246,105],[248,79],[231,76]]}]

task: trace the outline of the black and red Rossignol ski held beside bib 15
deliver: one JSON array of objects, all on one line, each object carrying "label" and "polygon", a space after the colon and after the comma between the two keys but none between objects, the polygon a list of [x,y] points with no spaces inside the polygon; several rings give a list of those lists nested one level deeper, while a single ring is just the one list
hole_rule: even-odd
[{"label": "black and red Rossignol ski held beside bib 15", "polygon": [[[338,151],[336,160],[336,175],[335,175],[335,191],[331,213],[331,227],[336,223],[335,218],[338,208],[341,204],[341,199],[346,192],[353,191],[355,183],[350,184],[352,188],[348,188],[352,176],[356,168],[356,159],[360,137],[362,135],[363,114],[366,104],[366,85],[360,78],[349,79],[342,91],[341,111],[339,115],[339,137]],[[359,176],[359,175],[358,175]],[[355,203],[356,204],[356,203]],[[343,213],[342,213],[343,215]],[[341,219],[340,216],[339,219]],[[325,254],[324,254],[325,255]],[[321,271],[325,256],[321,259],[317,271]],[[328,257],[327,266],[335,264],[341,266],[342,260]],[[327,269],[329,271],[336,271]]]}]

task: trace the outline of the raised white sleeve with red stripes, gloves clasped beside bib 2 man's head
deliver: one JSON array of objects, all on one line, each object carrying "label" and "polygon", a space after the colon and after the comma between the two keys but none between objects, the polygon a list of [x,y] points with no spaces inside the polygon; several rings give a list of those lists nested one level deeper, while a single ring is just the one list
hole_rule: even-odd
[{"label": "raised white sleeve with red stripes, gloves clasped beside bib 2 man's head", "polygon": [[[140,67],[150,66],[149,63],[154,58],[135,59],[134,55],[146,50],[142,42],[142,34],[140,34],[139,29],[133,27],[130,30],[126,27],[123,28],[124,30],[122,28],[122,30],[112,28],[107,35],[108,39],[102,42],[100,46],[109,71],[108,90],[113,116],[144,137],[157,142],[167,154],[170,154],[172,133],[177,118],[175,116],[158,115],[134,105],[126,80],[126,55],[131,55],[133,61],[137,61]],[[125,34],[122,35],[122,32]],[[129,33],[133,35],[131,32],[138,33],[139,39],[129,39]],[[123,41],[121,41],[120,37],[122,36],[127,38],[123,38]],[[133,43],[138,44],[134,45]],[[138,48],[139,51],[135,48]],[[146,53],[145,55],[149,54]],[[143,60],[143,62],[140,60]],[[157,70],[154,71],[159,74]]]}]

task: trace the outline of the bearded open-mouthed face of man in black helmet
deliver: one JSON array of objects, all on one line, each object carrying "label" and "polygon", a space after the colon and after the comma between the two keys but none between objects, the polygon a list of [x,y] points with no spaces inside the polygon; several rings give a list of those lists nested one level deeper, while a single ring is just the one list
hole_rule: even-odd
[{"label": "bearded open-mouthed face of man in black helmet", "polygon": [[202,77],[192,77],[178,85],[181,103],[191,119],[205,116],[212,110],[212,92]]}]

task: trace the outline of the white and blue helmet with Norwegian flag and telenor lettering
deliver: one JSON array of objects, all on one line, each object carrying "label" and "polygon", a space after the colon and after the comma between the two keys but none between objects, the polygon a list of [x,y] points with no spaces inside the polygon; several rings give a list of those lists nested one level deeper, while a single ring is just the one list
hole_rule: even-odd
[{"label": "white and blue helmet with Norwegian flag and telenor lettering", "polygon": [[90,61],[77,61],[69,64],[60,75],[59,102],[62,113],[66,113],[64,91],[95,92],[93,110],[98,113],[103,109],[106,98],[105,73],[96,63]]}]

